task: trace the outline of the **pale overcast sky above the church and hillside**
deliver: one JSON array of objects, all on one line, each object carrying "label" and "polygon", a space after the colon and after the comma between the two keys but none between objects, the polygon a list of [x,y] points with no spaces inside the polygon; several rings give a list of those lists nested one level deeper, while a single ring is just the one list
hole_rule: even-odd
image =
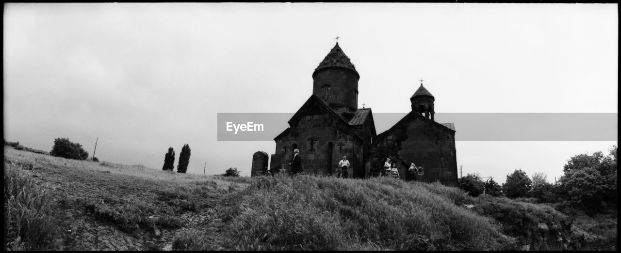
[{"label": "pale overcast sky above the church and hillside", "polygon": [[[617,113],[617,4],[5,4],[4,138],[99,160],[250,174],[273,141],[217,141],[217,113],[294,113],[335,44],[373,113],[407,113],[424,79],[436,113]],[[579,120],[579,119],[577,119]],[[283,122],[283,130],[286,122]],[[394,123],[380,125],[383,132]],[[455,122],[460,133],[460,122]],[[561,176],[610,141],[461,141],[463,174]]]}]

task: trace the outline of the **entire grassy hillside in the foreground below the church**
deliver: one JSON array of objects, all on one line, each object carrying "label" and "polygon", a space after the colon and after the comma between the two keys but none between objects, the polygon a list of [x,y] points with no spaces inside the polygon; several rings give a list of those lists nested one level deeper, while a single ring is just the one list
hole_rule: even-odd
[{"label": "entire grassy hillside in the foreground below the church", "polygon": [[7,146],[4,155],[5,249],[616,249],[616,216],[593,226],[440,184],[199,176]]}]

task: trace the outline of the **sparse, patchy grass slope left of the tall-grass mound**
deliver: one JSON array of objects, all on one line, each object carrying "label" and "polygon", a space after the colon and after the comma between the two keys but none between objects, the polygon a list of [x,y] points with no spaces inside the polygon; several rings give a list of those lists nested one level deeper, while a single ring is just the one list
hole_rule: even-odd
[{"label": "sparse, patchy grass slope left of the tall-grass mound", "polygon": [[4,249],[161,249],[179,231],[214,225],[222,197],[247,185],[7,146],[4,156]]}]

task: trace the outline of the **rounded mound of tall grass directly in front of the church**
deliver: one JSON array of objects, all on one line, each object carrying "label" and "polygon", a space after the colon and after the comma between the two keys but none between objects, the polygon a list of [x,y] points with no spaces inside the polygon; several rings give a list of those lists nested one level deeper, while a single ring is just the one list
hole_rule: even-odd
[{"label": "rounded mound of tall grass directly in front of the church", "polygon": [[[258,177],[225,204],[238,250],[500,249],[499,228],[422,183]],[[450,191],[450,190],[445,190]]]}]

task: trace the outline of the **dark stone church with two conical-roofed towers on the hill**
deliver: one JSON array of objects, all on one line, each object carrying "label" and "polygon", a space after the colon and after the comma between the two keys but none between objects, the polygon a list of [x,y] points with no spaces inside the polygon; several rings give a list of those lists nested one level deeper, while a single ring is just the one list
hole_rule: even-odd
[{"label": "dark stone church with two conical-roofed towers on the hill", "polygon": [[[416,180],[456,186],[455,127],[435,122],[435,98],[422,84],[410,98],[410,113],[377,134],[371,108],[358,108],[360,75],[338,42],[312,78],[312,95],[289,119],[289,128],[274,138],[272,171],[291,171],[297,148],[305,173],[333,174],[346,155],[348,178],[369,178],[378,176],[390,158],[402,179],[415,163],[424,167]],[[265,152],[255,153],[252,176],[267,170],[267,158]]]}]

